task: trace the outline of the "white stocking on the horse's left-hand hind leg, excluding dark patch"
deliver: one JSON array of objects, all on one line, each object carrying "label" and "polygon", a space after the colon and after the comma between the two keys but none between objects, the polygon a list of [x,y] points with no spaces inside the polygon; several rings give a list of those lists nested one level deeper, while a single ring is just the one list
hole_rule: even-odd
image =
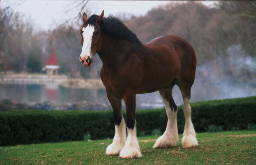
[{"label": "white stocking on the horse's left-hand hind leg, excluding dark patch", "polygon": [[162,95],[161,95],[161,98],[165,106],[168,121],[167,121],[167,127],[164,134],[157,139],[153,148],[167,148],[169,146],[174,146],[177,144],[179,140],[177,118],[176,118],[178,108],[176,109],[176,112],[175,112],[174,109],[172,110],[170,108],[169,101],[166,100]]}]

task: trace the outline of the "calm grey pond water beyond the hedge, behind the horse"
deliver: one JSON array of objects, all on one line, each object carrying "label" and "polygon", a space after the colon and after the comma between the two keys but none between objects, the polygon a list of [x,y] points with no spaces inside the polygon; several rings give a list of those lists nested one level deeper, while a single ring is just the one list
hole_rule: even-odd
[{"label": "calm grey pond water beyond the hedge, behind the horse", "polygon": [[[256,95],[255,86],[232,81],[199,82],[195,81],[191,89],[191,102],[211,99],[249,97]],[[173,89],[173,98],[177,105],[183,104],[177,86]],[[66,88],[58,84],[0,84],[0,100],[10,99],[23,103],[79,103],[87,109],[112,109],[106,95],[106,89]],[[97,106],[96,106],[97,105]],[[122,109],[125,109],[122,101]],[[136,95],[136,109],[163,108],[158,92]]]}]

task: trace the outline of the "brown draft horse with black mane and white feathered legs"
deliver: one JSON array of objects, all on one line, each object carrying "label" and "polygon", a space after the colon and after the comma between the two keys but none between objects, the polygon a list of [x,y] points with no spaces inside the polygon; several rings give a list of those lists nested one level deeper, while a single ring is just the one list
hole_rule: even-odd
[{"label": "brown draft horse with black mane and white feathered legs", "polygon": [[[190,89],[194,83],[196,56],[193,47],[183,38],[169,35],[142,44],[117,17],[83,13],[82,52],[84,67],[93,64],[97,53],[102,61],[101,80],[113,109],[115,134],[106,155],[121,158],[142,157],[135,121],[135,95],[159,91],[168,117],[167,127],[153,148],[167,148],[178,142],[177,106],[172,89],[177,85],[183,98],[185,128],[184,148],[196,147],[198,141],[191,121]],[[126,122],[121,101],[126,105]],[[146,121],[144,121],[146,122]],[[149,121],[148,121],[149,122]],[[127,131],[126,131],[127,129]]]}]

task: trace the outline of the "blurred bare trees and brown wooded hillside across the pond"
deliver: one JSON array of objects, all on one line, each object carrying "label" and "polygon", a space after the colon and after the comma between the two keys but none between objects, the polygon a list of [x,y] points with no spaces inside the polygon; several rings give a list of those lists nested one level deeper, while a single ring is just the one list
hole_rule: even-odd
[{"label": "blurred bare trees and brown wooded hillside across the pond", "polygon": [[[229,76],[248,75],[241,81],[255,82],[256,2],[219,2],[212,7],[200,2],[171,2],[148,11],[145,16],[125,17],[124,23],[143,43],[161,35],[178,35],[188,40],[196,51],[198,66],[205,68],[198,69],[201,75],[210,75],[211,69]],[[0,71],[26,70],[31,52],[43,67],[54,52],[62,73],[98,78],[102,63],[97,55],[93,66],[86,70],[79,62],[82,49],[79,30],[65,24],[53,31],[37,32],[19,13],[2,9]],[[235,59],[243,64],[243,71],[236,67]]]}]

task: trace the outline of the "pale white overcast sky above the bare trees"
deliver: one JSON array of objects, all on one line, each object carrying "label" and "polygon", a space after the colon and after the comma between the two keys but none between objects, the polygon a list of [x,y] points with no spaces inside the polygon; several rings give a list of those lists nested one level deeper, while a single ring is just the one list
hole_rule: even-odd
[{"label": "pale white overcast sky above the bare trees", "polygon": [[[13,11],[24,15],[24,20],[34,23],[39,30],[52,30],[65,20],[75,20],[79,13],[79,5],[82,1],[73,0],[1,0],[1,9],[9,4]],[[166,5],[170,1],[88,1],[86,10],[88,16],[100,15],[104,10],[104,17],[132,14],[134,16],[145,15],[149,10],[159,5]],[[204,2],[206,5],[214,2]],[[19,5],[17,5],[19,4]],[[75,6],[79,6],[75,8]],[[69,11],[69,12],[67,12]]]}]

